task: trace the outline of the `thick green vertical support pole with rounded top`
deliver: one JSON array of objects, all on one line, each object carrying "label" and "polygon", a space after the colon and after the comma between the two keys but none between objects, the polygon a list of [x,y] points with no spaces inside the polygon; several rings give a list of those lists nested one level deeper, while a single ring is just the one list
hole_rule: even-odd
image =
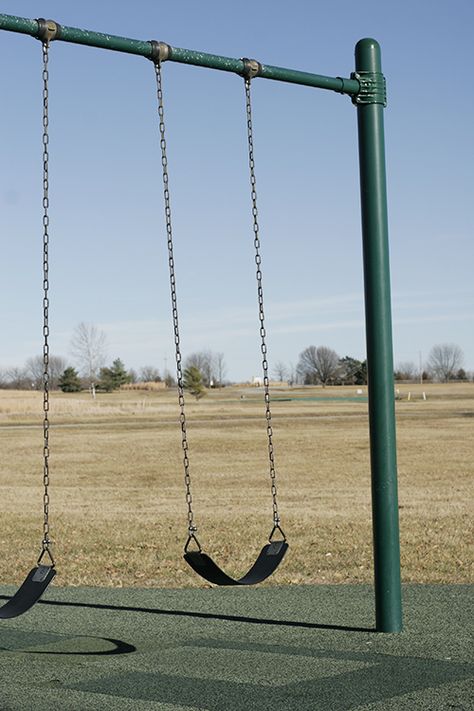
[{"label": "thick green vertical support pole with rounded top", "polygon": [[355,57],[352,78],[361,86],[353,103],[359,132],[376,627],[380,632],[399,632],[402,605],[383,126],[385,79],[375,40],[360,40]]}]

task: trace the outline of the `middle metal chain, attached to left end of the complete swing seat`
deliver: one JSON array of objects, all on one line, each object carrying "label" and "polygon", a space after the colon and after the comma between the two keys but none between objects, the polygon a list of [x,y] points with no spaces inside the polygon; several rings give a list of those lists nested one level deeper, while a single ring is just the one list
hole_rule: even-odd
[{"label": "middle metal chain, attached to left end of the complete swing seat", "polygon": [[168,176],[168,158],[166,152],[166,137],[165,137],[165,119],[164,119],[164,108],[163,108],[163,89],[161,81],[161,62],[155,62],[155,75],[156,75],[156,86],[157,86],[157,97],[158,97],[158,117],[159,117],[159,127],[160,127],[160,148],[161,148],[161,165],[163,168],[163,195],[165,201],[165,218],[166,218],[166,235],[168,242],[168,266],[170,274],[170,289],[171,289],[171,307],[173,314],[173,330],[174,330],[174,343],[175,343],[175,355],[176,355],[176,375],[178,383],[178,398],[180,407],[180,417],[179,421],[181,424],[181,444],[183,448],[183,466],[184,466],[184,483],[186,486],[186,504],[188,507],[188,541],[185,546],[187,550],[191,541],[194,541],[199,550],[201,546],[196,538],[197,526],[194,523],[194,512],[193,512],[193,497],[191,494],[191,474],[189,470],[189,446],[188,446],[188,436],[186,429],[186,414],[184,405],[184,382],[183,382],[183,368],[182,368],[182,357],[181,357],[181,345],[179,337],[179,322],[178,322],[178,301],[176,296],[176,274],[174,266],[174,252],[173,252],[173,228],[171,222],[171,204],[170,204],[170,192],[169,192],[169,176]]}]

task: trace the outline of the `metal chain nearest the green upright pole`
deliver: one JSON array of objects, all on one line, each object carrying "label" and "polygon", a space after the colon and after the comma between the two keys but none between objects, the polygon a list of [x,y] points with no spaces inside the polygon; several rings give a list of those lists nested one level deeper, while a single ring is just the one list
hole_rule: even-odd
[{"label": "metal chain nearest the green upright pole", "polygon": [[272,505],[273,505],[273,531],[270,534],[270,539],[276,530],[280,531],[284,536],[283,531],[280,528],[280,514],[278,511],[278,497],[277,497],[277,485],[276,485],[276,471],[275,471],[275,452],[273,446],[273,427],[272,427],[272,413],[270,409],[270,381],[268,377],[268,360],[267,360],[267,342],[266,342],[266,330],[265,330],[265,313],[263,307],[263,284],[262,284],[262,257],[260,255],[260,236],[259,236],[259,224],[258,224],[258,209],[257,209],[257,179],[255,176],[255,160],[253,153],[253,124],[252,124],[252,103],[251,103],[251,90],[250,90],[251,79],[247,76],[245,77],[245,99],[246,99],[246,111],[247,111],[247,137],[248,137],[248,149],[249,149],[249,168],[250,168],[250,187],[251,187],[251,198],[252,198],[252,219],[253,219],[253,233],[254,233],[254,247],[255,247],[255,264],[257,266],[256,277],[257,277],[257,294],[258,294],[258,316],[260,321],[260,338],[261,338],[261,351],[262,351],[262,370],[263,370],[263,386],[265,393],[265,417],[267,420],[267,438],[268,438],[268,459],[270,465],[270,480],[271,480],[271,491],[272,491]]}]

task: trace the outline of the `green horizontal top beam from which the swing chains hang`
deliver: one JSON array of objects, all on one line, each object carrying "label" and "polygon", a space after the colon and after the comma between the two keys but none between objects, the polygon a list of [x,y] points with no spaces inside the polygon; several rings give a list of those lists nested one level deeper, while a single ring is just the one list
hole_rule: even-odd
[{"label": "green horizontal top beam from which the swing chains hang", "polygon": [[[147,59],[151,59],[152,48],[148,41],[129,39],[127,37],[118,37],[116,35],[107,35],[101,32],[91,32],[90,30],[81,30],[77,27],[60,26],[58,37],[54,40],[62,42],[72,42],[74,44],[84,44],[89,47],[99,47],[101,49],[111,49],[115,52],[127,52],[128,54],[137,54]],[[15,15],[0,14],[0,29],[9,32],[19,32],[32,37],[38,37],[39,25],[36,20],[30,20],[24,17],[16,17]],[[258,59],[256,57],[255,59]],[[233,72],[234,74],[242,74],[244,63],[241,59],[232,59],[230,57],[221,57],[216,54],[207,54],[206,52],[196,52],[190,49],[181,49],[179,47],[170,46],[169,57],[167,61],[179,62],[181,64],[192,64],[198,67],[207,67],[209,69],[218,69],[224,72]],[[260,61],[260,60],[259,60]],[[311,86],[317,89],[329,89],[337,91],[341,94],[355,95],[360,91],[360,84],[357,79],[345,79],[344,77],[327,77],[320,74],[311,74],[309,72],[300,72],[295,69],[285,69],[283,67],[272,67],[261,63],[261,71],[259,77],[263,79],[273,79],[275,81],[283,81],[291,84],[301,84],[303,86]]]}]

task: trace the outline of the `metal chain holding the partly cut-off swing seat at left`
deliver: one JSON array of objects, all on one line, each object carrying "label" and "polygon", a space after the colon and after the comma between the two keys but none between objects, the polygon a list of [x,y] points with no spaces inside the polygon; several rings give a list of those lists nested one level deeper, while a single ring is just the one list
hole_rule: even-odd
[{"label": "metal chain holding the partly cut-off swing seat at left", "polygon": [[49,42],[43,48],[43,540],[38,563],[51,553],[49,524]]}]

